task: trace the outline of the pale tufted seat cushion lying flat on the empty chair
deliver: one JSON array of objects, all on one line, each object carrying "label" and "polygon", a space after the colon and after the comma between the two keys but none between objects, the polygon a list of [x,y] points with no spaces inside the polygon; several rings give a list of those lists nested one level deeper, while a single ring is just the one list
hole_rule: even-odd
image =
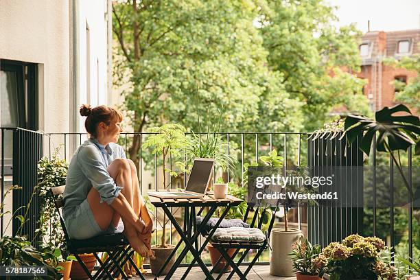
[{"label": "pale tufted seat cushion lying flat on the empty chair", "polygon": [[266,240],[266,235],[261,229],[233,226],[227,229],[216,229],[211,239],[215,242],[263,242]]}]

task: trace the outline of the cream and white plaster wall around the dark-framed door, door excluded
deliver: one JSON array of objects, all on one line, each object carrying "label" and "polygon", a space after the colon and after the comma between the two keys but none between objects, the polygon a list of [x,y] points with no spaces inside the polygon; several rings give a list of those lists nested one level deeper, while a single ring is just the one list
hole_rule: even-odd
[{"label": "cream and white plaster wall around the dark-framed door, door excluded", "polygon": [[[74,25],[77,27],[76,37],[73,37],[73,7],[78,13],[78,20]],[[41,130],[84,132],[84,118],[80,116],[78,109],[72,108],[71,103],[74,98],[80,104],[86,103],[88,78],[91,81],[91,105],[107,104],[106,12],[107,0],[0,0],[0,59],[38,64]],[[86,23],[90,30],[89,73],[86,71]],[[73,43],[78,47],[77,56],[74,56]],[[73,76],[73,73],[77,75]],[[71,95],[73,79],[77,85],[75,95]],[[62,137],[55,137],[52,141],[53,148],[60,143],[63,143]],[[69,160],[73,151],[69,141],[67,145]],[[46,146],[44,151],[48,152]],[[10,210],[11,202],[12,196],[9,196],[5,202],[8,204],[6,211]],[[8,221],[9,218],[6,215],[4,220]],[[11,227],[7,233],[11,233]]]}]

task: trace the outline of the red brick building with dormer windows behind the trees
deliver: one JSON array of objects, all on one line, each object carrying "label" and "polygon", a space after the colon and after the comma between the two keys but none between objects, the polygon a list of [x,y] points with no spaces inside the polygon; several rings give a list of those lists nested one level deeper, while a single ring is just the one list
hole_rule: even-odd
[{"label": "red brick building with dormer windows behind the trees", "polygon": [[382,62],[386,57],[401,58],[412,56],[419,52],[420,29],[395,32],[367,32],[362,36],[359,46],[362,56],[359,78],[369,82],[364,86],[363,93],[369,98],[372,110],[384,106],[393,106],[398,90],[392,84],[394,80],[409,82],[417,73],[406,69],[394,69]]}]

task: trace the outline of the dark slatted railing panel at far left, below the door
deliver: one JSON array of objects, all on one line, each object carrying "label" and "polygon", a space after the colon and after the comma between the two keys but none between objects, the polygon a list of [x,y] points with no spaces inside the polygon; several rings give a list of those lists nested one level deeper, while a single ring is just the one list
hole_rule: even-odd
[{"label": "dark slatted railing panel at far left, below the door", "polygon": [[[6,204],[7,188],[12,185],[21,187],[10,193],[12,207],[5,205],[5,209],[9,207],[10,215],[7,217],[12,219],[12,234],[19,232],[31,241],[35,237],[39,213],[38,197],[32,194],[38,181],[37,164],[42,156],[43,133],[23,128],[1,128],[1,203]],[[1,236],[5,227],[10,226],[10,220],[4,218],[2,215],[0,220]]]}]

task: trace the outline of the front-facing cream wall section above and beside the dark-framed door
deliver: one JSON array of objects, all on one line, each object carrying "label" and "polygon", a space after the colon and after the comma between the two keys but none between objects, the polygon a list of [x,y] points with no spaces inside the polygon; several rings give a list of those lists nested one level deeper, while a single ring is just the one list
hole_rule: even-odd
[{"label": "front-facing cream wall section above and beside the dark-framed door", "polygon": [[40,129],[68,131],[69,1],[0,0],[0,59],[40,65]]}]

